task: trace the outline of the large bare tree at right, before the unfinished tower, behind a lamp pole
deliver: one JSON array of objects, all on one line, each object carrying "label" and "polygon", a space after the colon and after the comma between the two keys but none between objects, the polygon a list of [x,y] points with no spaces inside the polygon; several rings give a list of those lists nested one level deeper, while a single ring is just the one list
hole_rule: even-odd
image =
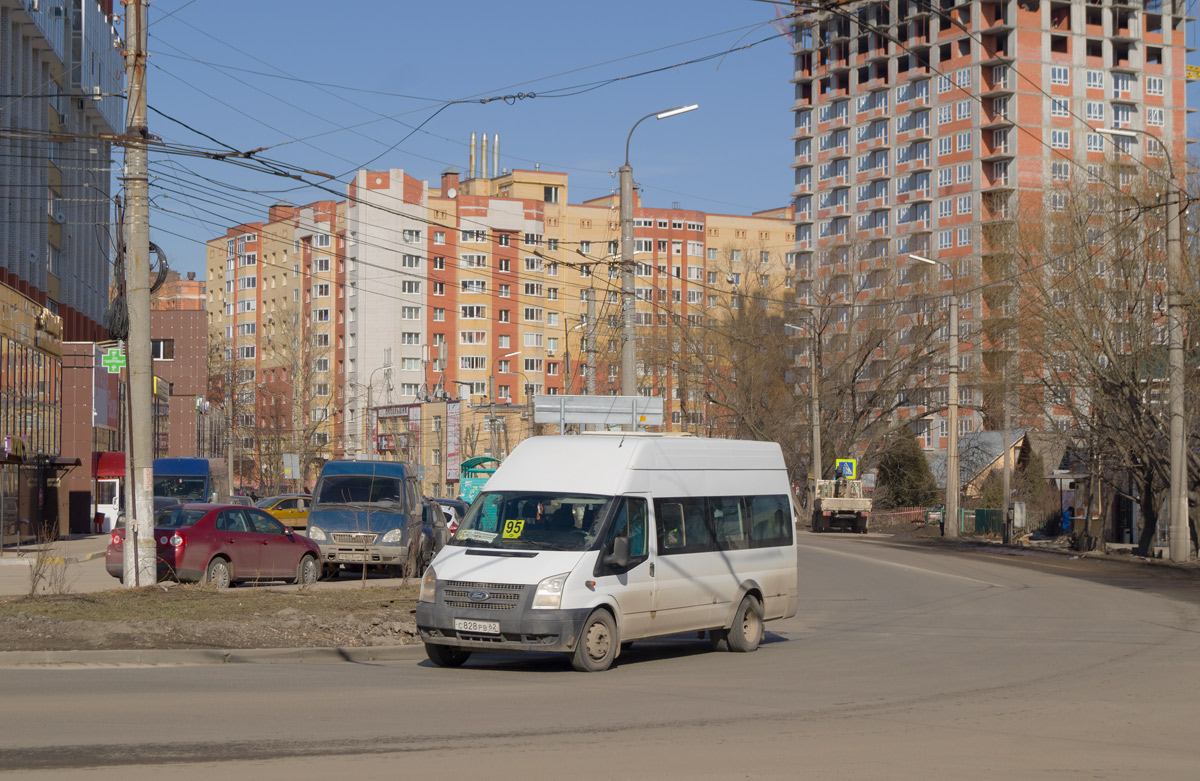
[{"label": "large bare tree at right, before the unfinished tower, behind a lamp pole", "polygon": [[[1148,170],[1132,161],[1098,166],[1055,182],[1044,204],[1025,204],[1044,208],[1044,218],[1022,220],[1024,235],[1012,244],[1024,268],[1026,404],[1075,437],[1093,486],[1103,481],[1110,494],[1139,504],[1142,555],[1152,549],[1169,479],[1166,167],[1154,162],[1147,160]],[[1194,252],[1186,258],[1194,280]],[[1196,322],[1195,306],[1192,296],[1188,322]],[[1194,389],[1194,361],[1186,379]],[[1194,426],[1189,432],[1194,501],[1200,455]]]}]

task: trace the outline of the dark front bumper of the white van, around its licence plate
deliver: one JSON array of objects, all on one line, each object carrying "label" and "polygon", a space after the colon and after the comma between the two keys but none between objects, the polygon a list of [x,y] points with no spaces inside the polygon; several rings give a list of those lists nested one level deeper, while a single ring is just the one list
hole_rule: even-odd
[{"label": "dark front bumper of the white van, around its licence plate", "polygon": [[[535,611],[521,605],[504,611],[502,615],[494,609],[446,606],[439,594],[437,602],[418,602],[416,633],[426,643],[458,645],[470,650],[572,651],[590,612],[588,608]],[[455,629],[456,618],[497,621],[500,631],[458,631]]]}]

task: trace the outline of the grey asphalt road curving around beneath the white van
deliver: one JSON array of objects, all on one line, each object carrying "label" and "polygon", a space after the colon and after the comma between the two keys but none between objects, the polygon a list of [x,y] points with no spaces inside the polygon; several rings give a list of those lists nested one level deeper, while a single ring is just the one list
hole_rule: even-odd
[{"label": "grey asphalt road curving around beneath the white van", "polygon": [[[1194,579],[802,535],[756,653],[0,669],[0,774],[1164,777],[1200,768]],[[1146,571],[1148,572],[1148,570]]]}]

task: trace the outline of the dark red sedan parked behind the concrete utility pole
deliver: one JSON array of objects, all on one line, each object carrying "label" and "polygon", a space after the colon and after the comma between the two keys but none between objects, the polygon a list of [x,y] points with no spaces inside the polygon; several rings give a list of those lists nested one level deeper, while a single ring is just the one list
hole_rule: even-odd
[{"label": "dark red sedan parked behind the concrete utility pole", "polygon": [[[257,507],[185,504],[155,513],[158,577],[226,588],[239,581],[314,583],[320,548]],[[125,529],[114,529],[104,567],[125,575]]]}]

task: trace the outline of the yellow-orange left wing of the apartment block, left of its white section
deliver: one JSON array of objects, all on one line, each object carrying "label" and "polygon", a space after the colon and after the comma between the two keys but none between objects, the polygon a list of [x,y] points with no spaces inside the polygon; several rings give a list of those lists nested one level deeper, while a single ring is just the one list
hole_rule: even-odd
[{"label": "yellow-orange left wing of the apartment block, left of its white section", "polygon": [[247,485],[282,482],[271,456],[296,455],[313,471],[334,455],[353,314],[344,221],[344,202],[281,202],[208,242],[208,395],[232,417]]}]

